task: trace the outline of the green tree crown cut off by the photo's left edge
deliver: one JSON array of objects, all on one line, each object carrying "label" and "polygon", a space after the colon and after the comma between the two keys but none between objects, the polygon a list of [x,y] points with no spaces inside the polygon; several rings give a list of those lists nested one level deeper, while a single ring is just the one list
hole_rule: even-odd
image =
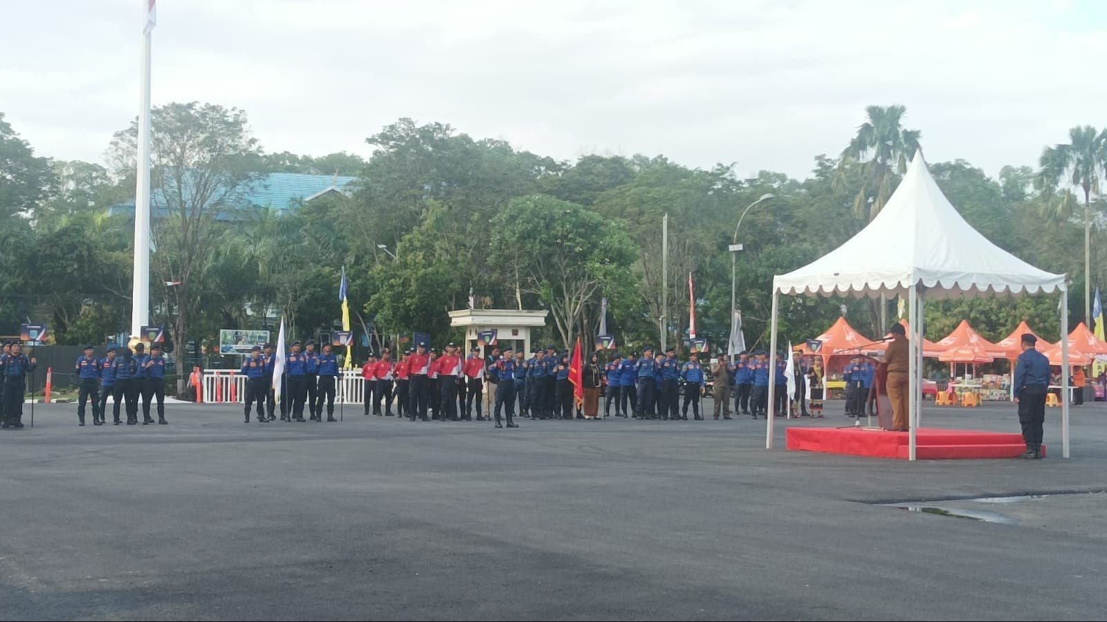
[{"label": "green tree crown cut off by the photo's left edge", "polygon": [[50,160],[35,157],[0,113],[0,221],[34,208],[48,197],[56,180]]}]

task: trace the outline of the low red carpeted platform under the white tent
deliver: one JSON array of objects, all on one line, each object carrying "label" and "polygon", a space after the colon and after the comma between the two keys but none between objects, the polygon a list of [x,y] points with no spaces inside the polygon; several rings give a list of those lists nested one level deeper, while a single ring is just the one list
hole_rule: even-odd
[{"label": "low red carpeted platform under the white tent", "polygon": [[[849,454],[877,458],[908,459],[910,440],[906,432],[860,427],[789,427],[789,449]],[[975,429],[920,427],[915,457],[920,460],[948,458],[1015,458],[1026,450],[1023,435]],[[1045,455],[1045,445],[1042,446]]]}]

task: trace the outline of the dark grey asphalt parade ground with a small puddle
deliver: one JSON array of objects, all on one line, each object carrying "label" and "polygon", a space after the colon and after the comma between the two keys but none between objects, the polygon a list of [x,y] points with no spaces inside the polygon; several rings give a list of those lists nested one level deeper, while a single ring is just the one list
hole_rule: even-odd
[{"label": "dark grey asphalt parade ground with a small puddle", "polygon": [[[1070,459],[1057,408],[1042,460],[783,448],[789,425],[847,425],[826,413],[777,419],[766,450],[741,416],[496,429],[173,404],[169,425],[77,427],[40,404],[0,431],[0,618],[1103,618],[1107,405],[1073,408]],[[1010,403],[928,403],[923,425],[1018,431]],[[1051,496],[964,500],[1015,495]],[[880,505],[908,501],[1003,520]]]}]

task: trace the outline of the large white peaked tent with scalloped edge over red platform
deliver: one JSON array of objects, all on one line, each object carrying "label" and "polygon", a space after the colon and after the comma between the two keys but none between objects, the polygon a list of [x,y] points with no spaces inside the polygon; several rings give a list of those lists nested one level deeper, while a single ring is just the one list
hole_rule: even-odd
[{"label": "large white peaked tent with scalloped edge over red platform", "polygon": [[[865,258],[863,261],[859,258]],[[1061,334],[1068,334],[1065,274],[1039,270],[992,243],[973,229],[939,189],[917,152],[907,175],[884,208],[861,231],[811,263],[773,279],[769,373],[775,375],[777,310],[786,296],[902,296],[908,299],[911,342],[910,459],[922,403],[922,329],[925,300],[1059,293]],[[1062,340],[1063,359],[1068,348]],[[774,381],[768,384],[773,403]],[[1063,455],[1068,457],[1068,392],[1062,392]],[[768,417],[766,442],[773,447]]]}]

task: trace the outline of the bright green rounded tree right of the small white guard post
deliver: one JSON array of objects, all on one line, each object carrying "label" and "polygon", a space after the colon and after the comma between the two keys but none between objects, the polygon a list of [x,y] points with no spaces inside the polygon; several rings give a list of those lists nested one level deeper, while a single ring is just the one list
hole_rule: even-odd
[{"label": "bright green rounded tree right of the small white guard post", "polygon": [[624,289],[637,257],[621,222],[545,195],[511,200],[493,227],[493,265],[517,271],[520,289],[546,303],[566,348],[586,307],[604,288]]}]

